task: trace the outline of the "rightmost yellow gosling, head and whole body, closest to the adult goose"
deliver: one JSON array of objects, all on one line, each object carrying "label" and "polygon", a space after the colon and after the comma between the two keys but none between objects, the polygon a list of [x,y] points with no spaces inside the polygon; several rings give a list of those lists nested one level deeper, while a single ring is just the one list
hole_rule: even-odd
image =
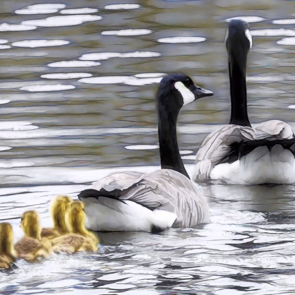
[{"label": "rightmost yellow gosling, head and whole body, closest to the adult goose", "polygon": [[69,204],[66,212],[69,233],[52,239],[54,252],[75,253],[77,251],[96,251],[98,239],[85,227],[84,205],[80,201]]}]

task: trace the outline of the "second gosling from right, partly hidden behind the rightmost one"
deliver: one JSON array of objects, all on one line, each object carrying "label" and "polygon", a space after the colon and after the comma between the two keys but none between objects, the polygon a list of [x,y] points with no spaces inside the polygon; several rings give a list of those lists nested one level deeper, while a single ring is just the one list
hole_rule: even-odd
[{"label": "second gosling from right, partly hidden behind the rightmost one", "polygon": [[57,196],[52,200],[50,213],[53,220],[53,228],[42,229],[42,238],[52,239],[69,232],[65,224],[65,214],[71,202],[72,199],[68,196]]}]

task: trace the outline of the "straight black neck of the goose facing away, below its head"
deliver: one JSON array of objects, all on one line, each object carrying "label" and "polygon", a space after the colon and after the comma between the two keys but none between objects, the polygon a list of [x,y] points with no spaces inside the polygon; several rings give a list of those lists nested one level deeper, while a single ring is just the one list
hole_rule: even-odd
[{"label": "straight black neck of the goose facing away, below its head", "polygon": [[229,72],[231,87],[231,120],[230,124],[249,126],[247,113],[247,89],[246,89],[246,59],[237,62],[229,56]]}]

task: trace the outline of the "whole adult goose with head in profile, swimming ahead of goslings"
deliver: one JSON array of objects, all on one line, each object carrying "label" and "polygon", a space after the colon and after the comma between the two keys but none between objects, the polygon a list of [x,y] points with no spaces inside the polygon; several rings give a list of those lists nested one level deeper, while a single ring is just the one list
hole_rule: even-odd
[{"label": "whole adult goose with head in profile, swimming ahead of goslings", "polygon": [[210,95],[213,92],[195,86],[183,74],[161,80],[156,100],[162,169],[149,174],[116,172],[82,191],[78,197],[85,204],[87,228],[159,233],[209,221],[202,188],[190,180],[182,163],[176,123],[183,105]]}]

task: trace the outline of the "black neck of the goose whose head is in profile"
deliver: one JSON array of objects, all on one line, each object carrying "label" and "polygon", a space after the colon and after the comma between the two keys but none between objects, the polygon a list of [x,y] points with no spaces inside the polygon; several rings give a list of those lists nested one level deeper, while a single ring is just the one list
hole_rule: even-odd
[{"label": "black neck of the goose whose head is in profile", "polygon": [[162,169],[172,169],[184,176],[188,174],[184,168],[177,144],[176,123],[179,109],[172,110],[159,102],[158,136]]}]

